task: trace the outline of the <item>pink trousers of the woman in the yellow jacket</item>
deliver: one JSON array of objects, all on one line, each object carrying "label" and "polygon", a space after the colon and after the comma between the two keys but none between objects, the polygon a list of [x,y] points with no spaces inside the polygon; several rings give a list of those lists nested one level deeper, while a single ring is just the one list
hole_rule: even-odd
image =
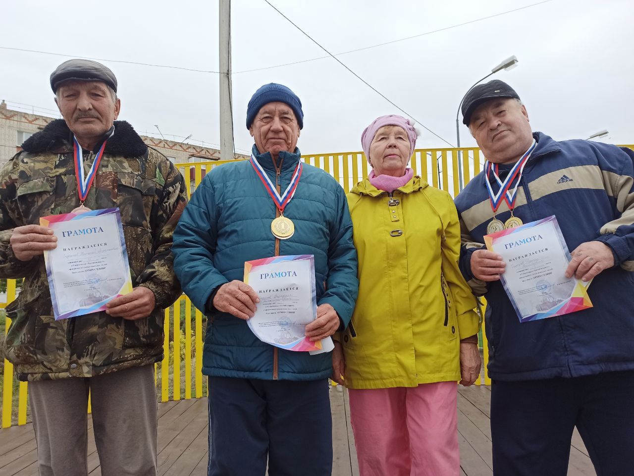
[{"label": "pink trousers of the woman in the yellow jacket", "polygon": [[456,382],[350,389],[361,476],[458,476]]}]

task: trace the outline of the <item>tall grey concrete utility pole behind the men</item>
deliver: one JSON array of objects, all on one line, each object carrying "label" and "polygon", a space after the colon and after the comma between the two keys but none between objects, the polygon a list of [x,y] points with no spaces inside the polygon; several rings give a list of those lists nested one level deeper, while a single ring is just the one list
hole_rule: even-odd
[{"label": "tall grey concrete utility pole behind the men", "polygon": [[233,115],[231,113],[231,0],[219,0],[220,57],[220,159],[232,160]]}]

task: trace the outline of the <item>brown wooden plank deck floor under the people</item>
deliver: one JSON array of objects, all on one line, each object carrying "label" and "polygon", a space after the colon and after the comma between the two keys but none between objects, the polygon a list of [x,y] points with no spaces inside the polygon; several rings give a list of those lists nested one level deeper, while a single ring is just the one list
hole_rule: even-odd
[{"label": "brown wooden plank deck floor under the people", "polygon": [[[488,387],[460,387],[458,438],[462,476],[491,476],[491,431]],[[333,476],[358,476],[354,439],[349,421],[347,394],[342,387],[330,390],[333,415]],[[91,426],[91,420],[89,420]],[[92,431],[89,432],[88,470],[101,475]],[[207,474],[207,399],[159,404],[159,475]],[[0,430],[0,474],[37,476],[37,450],[32,425]],[[588,452],[575,432],[569,476],[596,476]]]}]

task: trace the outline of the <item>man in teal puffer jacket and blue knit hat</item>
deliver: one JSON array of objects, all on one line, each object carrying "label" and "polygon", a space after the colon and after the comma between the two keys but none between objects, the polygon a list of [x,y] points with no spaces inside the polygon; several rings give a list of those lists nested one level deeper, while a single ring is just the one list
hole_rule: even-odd
[{"label": "man in teal puffer jacket and blue knit hat", "polygon": [[[358,290],[357,257],[346,195],[326,172],[308,164],[283,216],[295,233],[280,240],[280,216],[256,172],[283,195],[299,164],[304,114],[299,98],[266,84],[247,106],[252,160],[222,165],[191,196],[174,233],[174,269],[184,292],[209,319],[203,373],[209,375],[209,476],[332,472],[327,378],[330,352],[309,355],[257,339],[247,325],[256,292],[242,282],[244,262],[276,255],[314,255],[317,319],[314,340],[347,326]],[[264,179],[264,177],[262,177]],[[278,236],[283,231],[278,231]]]}]

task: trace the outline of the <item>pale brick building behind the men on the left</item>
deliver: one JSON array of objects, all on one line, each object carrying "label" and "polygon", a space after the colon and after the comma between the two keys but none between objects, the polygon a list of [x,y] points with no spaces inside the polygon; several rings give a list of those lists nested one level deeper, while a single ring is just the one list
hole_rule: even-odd
[{"label": "pale brick building behind the men on the left", "polygon": [[[57,118],[11,110],[2,101],[0,103],[0,165],[20,151],[20,145],[29,136],[55,119]],[[149,136],[141,136],[141,139],[148,146],[162,152],[174,164],[220,160],[220,151],[215,148]],[[236,158],[247,158],[247,156],[236,154]]]}]

